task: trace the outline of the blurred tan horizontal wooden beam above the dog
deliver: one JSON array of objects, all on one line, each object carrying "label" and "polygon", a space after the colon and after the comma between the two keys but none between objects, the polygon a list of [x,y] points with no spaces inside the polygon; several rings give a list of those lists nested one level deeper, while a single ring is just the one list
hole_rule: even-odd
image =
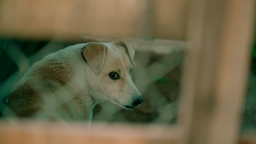
[{"label": "blurred tan horizontal wooden beam above the dog", "polygon": [[76,39],[79,34],[184,39],[187,2],[2,0],[0,35],[33,39]]}]

